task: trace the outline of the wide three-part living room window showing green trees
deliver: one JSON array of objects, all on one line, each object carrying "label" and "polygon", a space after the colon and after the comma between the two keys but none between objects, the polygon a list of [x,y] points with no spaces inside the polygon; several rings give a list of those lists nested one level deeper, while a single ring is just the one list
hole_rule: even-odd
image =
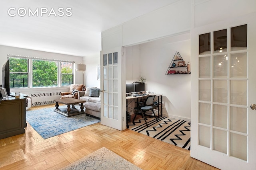
[{"label": "wide three-part living room window showing green trees", "polygon": [[[70,86],[74,62],[9,57],[10,88]],[[31,81],[31,82],[30,82]]]}]

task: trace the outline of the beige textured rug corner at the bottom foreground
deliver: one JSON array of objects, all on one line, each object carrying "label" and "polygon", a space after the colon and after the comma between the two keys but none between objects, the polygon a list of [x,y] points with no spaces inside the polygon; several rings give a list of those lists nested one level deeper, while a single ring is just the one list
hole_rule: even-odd
[{"label": "beige textured rug corner at the bottom foreground", "polygon": [[105,147],[96,150],[61,170],[142,170]]}]

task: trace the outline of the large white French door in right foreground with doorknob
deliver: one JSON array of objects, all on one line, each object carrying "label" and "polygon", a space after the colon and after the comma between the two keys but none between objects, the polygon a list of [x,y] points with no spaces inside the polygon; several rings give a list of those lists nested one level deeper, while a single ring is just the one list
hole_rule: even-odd
[{"label": "large white French door in right foreground with doorknob", "polygon": [[222,170],[256,169],[255,21],[191,31],[191,156]]}]

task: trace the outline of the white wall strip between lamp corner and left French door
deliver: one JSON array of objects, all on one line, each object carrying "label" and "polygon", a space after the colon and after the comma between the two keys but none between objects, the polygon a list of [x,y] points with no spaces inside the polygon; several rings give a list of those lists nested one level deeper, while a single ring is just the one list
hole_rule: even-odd
[{"label": "white wall strip between lamp corner and left French door", "polygon": [[84,57],[84,64],[86,64],[86,71],[84,84],[86,87],[100,88],[100,81],[97,80],[97,66],[100,65],[100,53],[92,56]]}]

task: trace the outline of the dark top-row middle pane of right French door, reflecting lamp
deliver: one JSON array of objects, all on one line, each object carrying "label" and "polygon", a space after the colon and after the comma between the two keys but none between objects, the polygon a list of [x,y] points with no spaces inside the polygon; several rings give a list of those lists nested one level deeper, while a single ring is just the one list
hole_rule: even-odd
[{"label": "dark top-row middle pane of right French door, reflecting lamp", "polygon": [[227,51],[227,35],[227,29],[213,32],[214,53],[222,53]]}]

